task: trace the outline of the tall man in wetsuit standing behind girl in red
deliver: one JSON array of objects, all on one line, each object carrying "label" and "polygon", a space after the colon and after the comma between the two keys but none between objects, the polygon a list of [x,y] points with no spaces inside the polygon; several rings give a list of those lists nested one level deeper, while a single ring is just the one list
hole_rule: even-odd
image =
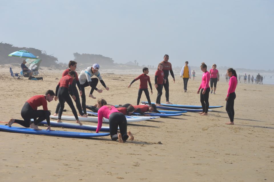
[{"label": "tall man in wetsuit standing behind girl in red", "polygon": [[169,59],[168,54],[165,54],[164,55],[164,60],[160,63],[163,64],[163,71],[164,71],[165,78],[166,78],[166,83],[163,84],[163,86],[165,88],[165,91],[166,91],[166,104],[172,104],[172,103],[169,102],[169,82],[168,82],[169,72],[170,72],[170,74],[173,78],[173,83],[175,83],[175,77],[174,77],[174,73],[172,71],[171,63],[168,62],[168,59]]}]

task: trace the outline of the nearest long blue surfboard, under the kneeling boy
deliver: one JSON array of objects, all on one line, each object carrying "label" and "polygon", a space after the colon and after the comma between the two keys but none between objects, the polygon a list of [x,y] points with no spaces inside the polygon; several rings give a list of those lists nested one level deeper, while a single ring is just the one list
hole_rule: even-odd
[{"label": "nearest long blue surfboard, under the kneeling boy", "polygon": [[66,132],[66,131],[49,131],[49,130],[34,130],[33,128],[19,128],[0,125],[0,130],[5,132],[33,134],[33,135],[50,135],[60,137],[102,137],[108,136],[109,133],[81,133],[81,132]]}]

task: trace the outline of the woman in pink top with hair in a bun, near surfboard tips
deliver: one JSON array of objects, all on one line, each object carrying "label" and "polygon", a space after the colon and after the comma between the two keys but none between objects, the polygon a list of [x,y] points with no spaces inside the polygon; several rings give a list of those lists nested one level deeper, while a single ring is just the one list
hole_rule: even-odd
[{"label": "woman in pink top with hair in a bun, near surfboard tips", "polygon": [[203,111],[200,112],[199,114],[207,115],[207,111],[208,111],[208,107],[209,107],[208,98],[209,98],[209,92],[210,92],[210,88],[209,88],[210,74],[207,71],[207,66],[204,62],[202,62],[202,65],[200,66],[200,68],[204,73],[202,76],[202,82],[201,82],[200,87],[197,91],[197,94],[199,94],[200,90],[202,89],[201,94],[200,94],[200,101],[202,104]]}]

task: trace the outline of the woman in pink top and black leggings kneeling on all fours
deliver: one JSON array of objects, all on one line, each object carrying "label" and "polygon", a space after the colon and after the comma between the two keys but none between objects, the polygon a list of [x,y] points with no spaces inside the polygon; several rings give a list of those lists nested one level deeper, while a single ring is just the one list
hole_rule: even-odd
[{"label": "woman in pink top and black leggings kneeling on all fours", "polygon": [[[109,120],[109,130],[110,130],[110,137],[113,141],[119,140],[120,143],[126,141],[129,137],[130,140],[133,140],[134,137],[130,131],[126,132],[127,130],[127,122],[126,117],[123,113],[119,112],[114,106],[107,105],[106,100],[99,99],[97,101],[98,104],[98,125],[96,133],[99,133],[100,129],[102,128],[103,117]],[[117,130],[120,133],[117,135]]]}]

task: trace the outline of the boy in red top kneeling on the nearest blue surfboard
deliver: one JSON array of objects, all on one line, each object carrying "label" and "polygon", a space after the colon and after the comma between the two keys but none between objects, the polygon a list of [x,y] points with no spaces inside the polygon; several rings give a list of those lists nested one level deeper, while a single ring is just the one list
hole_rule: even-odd
[{"label": "boy in red top kneeling on the nearest blue surfboard", "polygon": [[[47,120],[48,128],[47,130],[51,130],[51,123],[49,116],[51,112],[49,112],[47,107],[47,101],[51,102],[55,96],[53,90],[48,90],[45,95],[36,95],[31,97],[27,102],[25,102],[22,110],[21,116],[24,120],[17,120],[11,118],[8,122],[8,126],[11,127],[13,123],[18,123],[26,128],[33,128],[35,130],[41,130],[37,127],[37,124],[40,122]],[[43,106],[43,110],[37,110],[39,106]],[[36,119],[38,118],[38,119]],[[31,119],[34,119],[34,122],[31,123]]]}]

